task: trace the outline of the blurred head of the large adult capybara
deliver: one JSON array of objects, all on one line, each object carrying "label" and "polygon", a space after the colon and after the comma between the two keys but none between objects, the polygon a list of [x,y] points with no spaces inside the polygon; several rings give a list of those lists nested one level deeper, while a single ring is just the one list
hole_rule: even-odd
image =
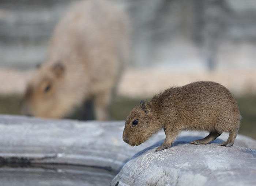
[{"label": "blurred head of the large adult capybara", "polygon": [[61,63],[43,65],[27,84],[20,114],[43,118],[59,118],[65,113],[65,67]]}]

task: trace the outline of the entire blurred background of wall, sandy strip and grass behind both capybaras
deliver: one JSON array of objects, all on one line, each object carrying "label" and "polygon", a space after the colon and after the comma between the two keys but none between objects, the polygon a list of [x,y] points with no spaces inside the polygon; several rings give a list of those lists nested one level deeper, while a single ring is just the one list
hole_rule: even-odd
[{"label": "entire blurred background of wall, sandy strip and grass behind both capybaras", "polygon": [[[256,139],[255,0],[106,0],[129,18],[129,58],[112,101],[124,120],[141,99],[170,86],[211,80],[229,88],[240,134]],[[75,0],[0,1],[0,113],[19,114],[35,66]],[[81,109],[68,118],[79,119]]]}]

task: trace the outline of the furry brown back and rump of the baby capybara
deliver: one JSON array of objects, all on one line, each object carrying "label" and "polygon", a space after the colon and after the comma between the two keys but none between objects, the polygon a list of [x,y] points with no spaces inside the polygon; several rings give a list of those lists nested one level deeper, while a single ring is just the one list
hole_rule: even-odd
[{"label": "furry brown back and rump of the baby capybara", "polygon": [[[194,82],[163,92],[163,104],[172,108],[172,117],[190,130],[229,132],[238,130],[240,111],[233,95],[215,82]],[[164,106],[163,105],[163,106]],[[200,129],[199,129],[200,128]]]}]

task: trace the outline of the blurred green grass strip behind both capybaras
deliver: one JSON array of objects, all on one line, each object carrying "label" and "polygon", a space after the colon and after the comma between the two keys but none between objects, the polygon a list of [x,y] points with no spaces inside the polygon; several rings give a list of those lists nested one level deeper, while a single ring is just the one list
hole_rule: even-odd
[{"label": "blurred green grass strip behind both capybaras", "polygon": [[[124,120],[140,100],[116,98],[111,109],[113,119]],[[236,100],[242,115],[239,134],[256,139],[256,95],[246,95],[236,98]],[[19,114],[20,101],[19,95],[0,96],[0,114]]]}]

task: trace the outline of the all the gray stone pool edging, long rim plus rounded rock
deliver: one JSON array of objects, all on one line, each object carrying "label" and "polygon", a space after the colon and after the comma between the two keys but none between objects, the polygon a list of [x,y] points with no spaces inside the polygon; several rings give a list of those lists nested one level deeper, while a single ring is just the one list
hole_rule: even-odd
[{"label": "all the gray stone pool edging, long rim plus rounded rock", "polygon": [[[207,145],[189,142],[207,132],[182,132],[174,146],[154,153],[160,131],[140,146],[123,142],[124,121],[53,120],[0,115],[0,163],[57,163],[104,167],[117,175],[111,185],[256,185],[256,141],[228,134]],[[253,150],[254,149],[254,150]],[[123,167],[123,168],[122,168]]]}]

